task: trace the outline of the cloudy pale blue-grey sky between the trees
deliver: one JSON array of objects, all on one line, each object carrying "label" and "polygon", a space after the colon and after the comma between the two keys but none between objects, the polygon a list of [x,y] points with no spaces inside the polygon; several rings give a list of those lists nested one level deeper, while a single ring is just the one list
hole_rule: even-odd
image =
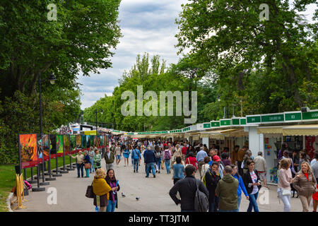
[{"label": "cloudy pale blue-grey sky between the trees", "polygon": [[[90,73],[90,77],[78,76],[83,96],[81,109],[90,107],[100,97],[112,95],[124,70],[131,69],[136,62],[137,54],[148,52],[155,54],[169,64],[177,63],[177,25],[182,11],[181,4],[187,0],[122,0],[119,7],[119,26],[122,37],[112,57],[112,68],[100,70],[100,74]],[[305,14],[312,16],[314,4],[307,8]]]}]

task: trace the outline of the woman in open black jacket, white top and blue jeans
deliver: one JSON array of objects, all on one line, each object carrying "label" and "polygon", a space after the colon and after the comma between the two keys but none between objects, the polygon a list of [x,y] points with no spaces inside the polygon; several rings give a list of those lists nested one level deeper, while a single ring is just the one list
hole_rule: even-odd
[{"label": "woman in open black jacket, white top and blue jeans", "polygon": [[259,212],[259,207],[257,206],[257,197],[259,196],[259,189],[261,189],[261,180],[259,174],[254,170],[255,162],[253,160],[247,160],[246,162],[248,171],[243,174],[243,182],[249,194],[249,207],[247,212]]}]

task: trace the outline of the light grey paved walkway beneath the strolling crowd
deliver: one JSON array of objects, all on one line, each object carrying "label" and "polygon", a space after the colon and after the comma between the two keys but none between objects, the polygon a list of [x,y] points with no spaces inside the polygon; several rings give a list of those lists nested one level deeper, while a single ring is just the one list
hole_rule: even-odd
[{"label": "light grey paved walkway beneath the strolling crowd", "polygon": [[[143,161],[143,160],[142,160]],[[131,160],[129,159],[129,163]],[[102,167],[105,168],[105,160],[102,160]],[[169,190],[173,186],[172,174],[166,174],[165,170],[161,170],[160,174],[156,174],[156,178],[152,175],[149,178],[145,178],[145,167],[142,164],[139,173],[134,173],[134,169],[131,165],[124,167],[123,160],[119,163],[119,167],[115,167],[115,176],[119,179],[119,185],[121,189],[119,191],[118,209],[117,212],[179,212],[179,206],[169,196]],[[49,182],[48,186],[45,186],[46,191],[33,192],[30,191],[25,198],[28,202],[24,202],[23,205],[26,209],[15,210],[15,212],[92,212],[95,211],[93,206],[93,198],[86,198],[86,188],[93,182],[93,175],[90,174],[90,178],[77,178],[77,171],[70,171],[68,174],[63,174],[62,177],[57,177],[56,181]],[[84,172],[85,176],[85,172]],[[198,178],[198,177],[197,177]],[[37,184],[33,184],[37,186]],[[47,194],[47,190],[50,188],[57,189],[57,204],[49,205],[47,198],[50,194]],[[261,198],[261,194],[258,198],[259,210],[261,212],[283,212],[283,203],[278,203],[277,198],[277,186],[269,186],[269,199],[266,204],[266,199]],[[260,193],[264,192],[261,189]],[[122,197],[122,193],[126,197]],[[136,196],[140,197],[139,201],[136,201]],[[264,196],[263,196],[264,197]],[[265,204],[261,205],[260,201],[263,199]],[[12,207],[14,207],[14,204]],[[242,203],[240,211],[245,212],[249,202],[245,196],[242,197]],[[310,208],[312,210],[312,207]],[[299,198],[291,198],[291,211],[300,212],[302,206]]]}]

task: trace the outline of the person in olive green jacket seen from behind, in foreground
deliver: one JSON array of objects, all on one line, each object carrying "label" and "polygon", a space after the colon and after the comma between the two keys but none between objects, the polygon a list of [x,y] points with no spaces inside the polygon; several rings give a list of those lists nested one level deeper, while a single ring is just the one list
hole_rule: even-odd
[{"label": "person in olive green jacket seen from behind, in foreground", "polygon": [[216,196],[220,198],[218,212],[238,212],[237,188],[238,181],[232,177],[232,167],[227,165],[223,170],[223,178],[216,186]]}]

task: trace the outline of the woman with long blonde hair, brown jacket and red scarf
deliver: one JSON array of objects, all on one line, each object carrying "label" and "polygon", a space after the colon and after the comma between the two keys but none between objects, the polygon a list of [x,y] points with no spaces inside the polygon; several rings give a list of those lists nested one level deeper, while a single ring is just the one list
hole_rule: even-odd
[{"label": "woman with long blonde hair, brown jacket and red scarf", "polygon": [[297,190],[302,203],[302,212],[309,212],[312,194],[316,191],[317,181],[308,162],[302,162],[300,172],[293,180],[293,187]]}]

